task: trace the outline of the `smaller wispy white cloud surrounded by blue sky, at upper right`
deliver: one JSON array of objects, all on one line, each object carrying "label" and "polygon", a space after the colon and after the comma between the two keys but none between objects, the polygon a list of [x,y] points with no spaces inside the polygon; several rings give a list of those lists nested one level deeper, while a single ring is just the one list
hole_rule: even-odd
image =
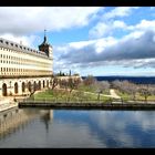
[{"label": "smaller wispy white cloud surrounded by blue sky, at upper right", "polygon": [[[120,20],[120,18],[131,16],[135,9],[138,9],[138,7],[117,7],[108,12],[105,12],[103,16],[101,16],[99,22],[90,30],[90,37],[101,38],[112,35],[116,29],[132,29],[128,28],[124,21]],[[118,19],[115,20],[115,18]]]}]

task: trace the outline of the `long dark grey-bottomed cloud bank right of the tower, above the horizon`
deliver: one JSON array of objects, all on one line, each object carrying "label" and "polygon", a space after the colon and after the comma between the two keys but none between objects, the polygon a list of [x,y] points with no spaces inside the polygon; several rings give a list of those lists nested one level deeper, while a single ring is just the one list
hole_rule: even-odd
[{"label": "long dark grey-bottomed cloud bank right of the tower, above the horizon", "polygon": [[[131,33],[122,39],[102,38],[92,41],[66,44],[68,53],[61,54],[60,61],[65,66],[76,64],[79,68],[101,65],[121,65],[133,68],[154,68],[155,32]],[[79,48],[78,44],[82,44]],[[56,51],[55,51],[56,52]],[[147,59],[147,61],[145,61]]]}]

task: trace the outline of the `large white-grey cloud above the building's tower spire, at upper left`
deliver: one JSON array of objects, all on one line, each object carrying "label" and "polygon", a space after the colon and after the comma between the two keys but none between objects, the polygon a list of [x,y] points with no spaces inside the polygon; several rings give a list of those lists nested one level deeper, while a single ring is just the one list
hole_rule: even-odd
[{"label": "large white-grey cloud above the building's tower spire, at upper left", "polygon": [[100,7],[2,7],[0,33],[16,35],[32,32],[59,31],[84,27],[102,8]]}]

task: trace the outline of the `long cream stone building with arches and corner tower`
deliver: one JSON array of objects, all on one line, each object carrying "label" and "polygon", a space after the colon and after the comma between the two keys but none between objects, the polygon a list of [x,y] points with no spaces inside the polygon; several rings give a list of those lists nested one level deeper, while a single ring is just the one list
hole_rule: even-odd
[{"label": "long cream stone building with arches and corner tower", "polygon": [[44,40],[39,51],[0,39],[0,96],[21,95],[51,84],[52,46]]}]

